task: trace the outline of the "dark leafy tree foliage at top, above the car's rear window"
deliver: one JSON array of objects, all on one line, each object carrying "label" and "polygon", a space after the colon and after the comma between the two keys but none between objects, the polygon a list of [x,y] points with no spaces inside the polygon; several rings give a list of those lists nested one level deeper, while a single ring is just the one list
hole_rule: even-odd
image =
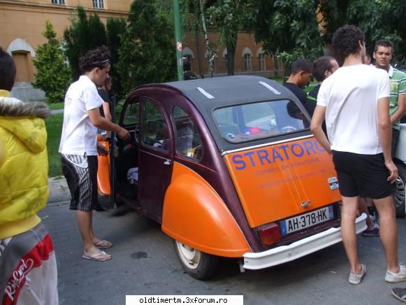
[{"label": "dark leafy tree foliage at top, above the car's rear window", "polygon": [[317,58],[323,55],[318,10],[319,0],[252,0],[256,41],[287,66],[298,58]]}]

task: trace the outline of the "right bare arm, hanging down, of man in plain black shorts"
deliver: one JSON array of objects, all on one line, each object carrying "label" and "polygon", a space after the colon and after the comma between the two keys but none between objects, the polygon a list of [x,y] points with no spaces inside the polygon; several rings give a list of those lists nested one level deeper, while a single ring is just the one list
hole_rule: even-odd
[{"label": "right bare arm, hanging down, of man in plain black shorts", "polygon": [[398,168],[392,161],[392,125],[391,118],[389,118],[389,97],[381,97],[378,99],[377,111],[379,140],[381,141],[382,150],[384,152],[385,166],[389,170],[388,180],[394,183],[396,178],[398,178]]}]

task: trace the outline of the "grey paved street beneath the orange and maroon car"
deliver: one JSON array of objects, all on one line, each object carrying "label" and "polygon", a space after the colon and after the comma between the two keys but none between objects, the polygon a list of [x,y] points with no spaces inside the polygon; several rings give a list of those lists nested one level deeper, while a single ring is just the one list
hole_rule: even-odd
[{"label": "grey paved street beneath the orange and maroon car", "polygon": [[[359,236],[361,262],[368,266],[360,285],[347,283],[349,266],[342,243],[244,274],[234,260],[221,260],[210,281],[197,281],[184,273],[171,239],[152,220],[129,210],[98,212],[95,232],[114,243],[108,249],[113,259],[83,260],[66,183],[53,180],[50,188],[50,202],[40,216],[55,243],[61,305],[125,304],[126,295],[244,295],[245,305],[401,304],[391,296],[396,284],[384,281],[384,251],[377,238]],[[400,262],[406,264],[406,220],[398,220],[398,231]]]}]

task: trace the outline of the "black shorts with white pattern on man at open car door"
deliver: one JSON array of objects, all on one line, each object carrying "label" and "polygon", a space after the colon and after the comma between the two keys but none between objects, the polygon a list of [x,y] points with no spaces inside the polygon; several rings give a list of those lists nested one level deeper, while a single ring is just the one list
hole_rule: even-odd
[{"label": "black shorts with white pattern on man at open car door", "polygon": [[97,156],[62,155],[62,172],[71,192],[71,210],[99,210]]}]

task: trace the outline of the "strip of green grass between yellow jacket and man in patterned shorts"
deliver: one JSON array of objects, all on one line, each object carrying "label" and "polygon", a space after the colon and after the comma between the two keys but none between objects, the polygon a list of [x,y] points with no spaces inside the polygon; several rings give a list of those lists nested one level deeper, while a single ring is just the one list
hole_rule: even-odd
[{"label": "strip of green grass between yellow jacket and man in patterned shorts", "polygon": [[51,118],[45,121],[48,132],[48,163],[49,177],[61,176],[61,155],[59,155],[59,141],[61,140],[63,113],[51,115]]}]

